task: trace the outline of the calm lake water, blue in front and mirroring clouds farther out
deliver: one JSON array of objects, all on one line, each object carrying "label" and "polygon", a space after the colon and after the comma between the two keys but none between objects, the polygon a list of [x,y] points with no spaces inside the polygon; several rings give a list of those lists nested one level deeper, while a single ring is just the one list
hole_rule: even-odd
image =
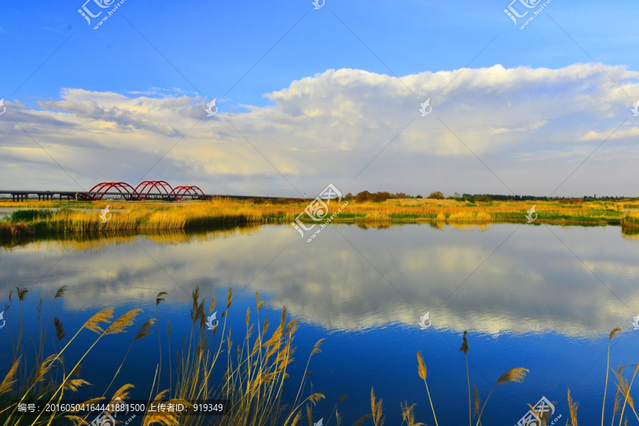
[{"label": "calm lake water, blue in front and mirroring clouds farther out", "polygon": [[[565,424],[567,388],[579,402],[580,422],[594,424],[601,416],[611,329],[623,329],[613,340],[611,366],[639,361],[639,330],[632,325],[639,315],[638,260],[639,239],[624,236],[618,226],[366,229],[344,224],[327,227],[309,244],[292,226],[268,225],[34,241],[1,249],[0,294],[8,302],[9,290],[16,297],[16,287],[29,288],[24,308],[32,315],[25,321],[35,327],[38,293],[48,315],[55,290],[67,285],[53,309],[67,336],[103,307],[115,307],[116,316],[143,308],[131,332],[105,337],[83,361],[82,378],[92,386],[80,395],[102,395],[138,326],[155,317],[160,291],[168,292],[158,307],[160,329],[166,339],[170,320],[175,350],[189,329],[190,293],[199,285],[206,306],[217,297],[218,317],[233,288],[227,327],[236,342],[246,331],[246,308],[255,312],[256,291],[266,300],[261,315],[272,323],[282,306],[300,322],[288,398],[297,393],[312,346],[326,339],[310,364],[313,391],[327,397],[313,409],[316,421],[325,417],[324,424],[343,393],[349,394],[339,405],[343,424],[370,413],[373,387],[384,401],[386,424],[400,424],[400,402],[408,400],[417,403],[416,421],[434,425],[417,376],[420,350],[439,424],[463,425],[468,419],[466,364],[459,351],[464,330],[471,383],[482,403],[508,368],[530,370],[523,383],[496,388],[482,417],[485,425],[515,425],[527,404],[542,396],[555,403],[553,417],[561,414]],[[421,329],[418,322],[427,312],[432,325]],[[13,313],[5,312],[5,320],[0,378],[9,369]],[[80,336],[78,347],[84,348],[95,334]],[[163,349],[166,361],[165,343]],[[133,398],[146,400],[158,360],[154,329],[133,345],[112,389],[133,383]],[[165,374],[161,388],[168,388]],[[614,392],[608,395],[609,412]]]}]

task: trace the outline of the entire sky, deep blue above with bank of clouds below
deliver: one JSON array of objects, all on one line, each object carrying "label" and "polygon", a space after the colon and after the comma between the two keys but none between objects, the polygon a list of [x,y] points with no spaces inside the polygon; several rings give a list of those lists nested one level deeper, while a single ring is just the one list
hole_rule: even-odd
[{"label": "entire sky, deep blue above with bank of clouds below", "polygon": [[[3,5],[1,186],[134,183],[137,170],[151,168],[188,131],[147,178],[286,196],[328,182],[346,192],[550,195],[628,119],[610,139],[616,145],[604,143],[557,195],[637,195],[628,182],[628,173],[639,177],[638,119],[630,113],[639,100],[638,6],[631,1],[553,0],[523,31],[503,13],[508,1],[326,0],[314,10],[310,0],[126,0],[98,30],[77,13],[81,6]],[[93,1],[87,7],[101,10]],[[519,1],[513,7],[526,10]],[[441,114],[418,123],[417,108],[429,97]],[[203,112],[213,98],[219,115],[191,133],[201,118],[195,105]],[[166,104],[148,99],[181,103],[173,115],[158,115]],[[317,116],[327,121],[311,124]],[[525,116],[534,117],[524,123]],[[157,126],[136,123],[171,129],[158,136]],[[322,140],[326,129],[334,131],[330,141]],[[478,136],[491,132],[503,140]]]}]

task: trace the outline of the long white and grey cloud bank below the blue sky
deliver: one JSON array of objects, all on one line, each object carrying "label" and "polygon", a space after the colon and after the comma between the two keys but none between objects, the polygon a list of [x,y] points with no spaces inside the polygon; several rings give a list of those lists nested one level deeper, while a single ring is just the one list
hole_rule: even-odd
[{"label": "long white and grey cloud bank below the blue sky", "polygon": [[[639,72],[604,68],[639,98]],[[204,112],[209,99],[177,88],[128,94],[63,89],[59,100],[38,102],[39,109],[19,99],[5,101],[8,114],[0,130],[11,134],[0,141],[0,161],[29,170],[28,179],[40,187],[68,183],[53,162],[42,167],[40,148],[11,117],[87,187],[107,179],[135,181],[170,151],[147,178],[208,185],[208,192],[297,195],[278,170],[304,192],[327,181],[353,191],[508,192],[475,154],[518,193],[545,195],[628,116],[611,139],[633,146],[636,155],[639,121],[629,113],[632,99],[606,73],[596,65],[558,70],[495,65],[399,80],[364,70],[327,70],[265,94],[273,103],[266,107],[219,99],[214,117]],[[422,117],[417,109],[429,97],[432,114]],[[606,173],[610,185],[628,182],[628,170],[638,178],[636,168],[628,165],[623,177],[618,164],[606,161],[615,157],[613,148],[597,151],[592,159],[601,167],[597,173]],[[6,170],[0,170],[0,180],[9,178]],[[534,174],[543,178],[532,183]],[[439,188],[420,189],[435,175]],[[591,185],[581,178],[576,175],[567,189]]]}]

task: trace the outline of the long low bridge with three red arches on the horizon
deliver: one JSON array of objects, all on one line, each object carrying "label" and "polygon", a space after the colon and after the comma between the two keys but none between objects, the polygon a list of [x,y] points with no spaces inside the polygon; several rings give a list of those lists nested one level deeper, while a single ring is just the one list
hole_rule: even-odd
[{"label": "long low bridge with three red arches on the horizon", "polygon": [[101,182],[88,192],[76,191],[23,191],[0,190],[2,195],[11,195],[13,201],[24,201],[38,197],[38,200],[125,200],[125,201],[181,201],[181,200],[211,200],[212,198],[237,198],[247,200],[249,198],[275,198],[275,197],[249,197],[247,195],[207,195],[197,186],[171,187],[164,180],[145,180],[138,186],[132,187],[126,182]]}]

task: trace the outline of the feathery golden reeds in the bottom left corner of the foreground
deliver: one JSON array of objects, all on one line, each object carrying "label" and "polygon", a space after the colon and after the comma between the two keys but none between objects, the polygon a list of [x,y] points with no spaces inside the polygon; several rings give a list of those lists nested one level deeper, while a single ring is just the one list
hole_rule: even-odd
[{"label": "feathery golden reeds in the bottom left corner of the foreground", "polygon": [[[18,404],[25,400],[35,402],[40,407],[44,407],[46,404],[60,403],[65,396],[73,395],[78,389],[89,386],[91,383],[80,378],[82,361],[97,342],[108,335],[126,332],[126,329],[133,325],[136,317],[141,313],[141,310],[135,309],[113,320],[113,308],[104,308],[92,315],[87,322],[84,322],[70,339],[65,339],[67,332],[62,321],[58,317],[54,317],[55,333],[53,336],[55,339],[53,342],[48,342],[53,305],[58,298],[64,297],[65,291],[66,286],[62,286],[55,293],[46,321],[43,317],[43,301],[40,299],[37,307],[39,332],[35,336],[28,333],[24,321],[23,303],[28,295],[28,290],[16,288],[17,302],[14,302],[13,291],[9,293],[9,306],[6,307],[5,312],[10,312],[13,316],[13,321],[11,321],[13,327],[10,326],[6,330],[9,332],[9,341],[11,342],[11,368],[0,383],[0,400],[2,401],[0,422],[4,426],[50,425],[54,420],[57,420],[60,417],[58,414],[40,412],[37,416],[30,416],[21,413],[18,411]],[[148,328],[147,323],[143,324],[133,342],[146,335],[143,333],[146,328]],[[75,344],[75,341],[82,332],[93,332],[97,337],[89,349],[79,349],[78,351],[77,347],[81,345]],[[76,350],[76,352],[70,358],[77,359],[79,356],[79,360],[67,364],[67,354],[72,350]],[[53,353],[45,356],[45,351]],[[127,398],[129,395],[127,390],[131,387],[130,384],[123,386],[114,393],[113,398],[105,399],[102,395],[99,398],[86,400],[85,404],[90,405],[100,400],[112,402],[118,397]],[[82,420],[78,416],[69,416],[67,419],[76,425],[83,424],[86,420]]]}]

